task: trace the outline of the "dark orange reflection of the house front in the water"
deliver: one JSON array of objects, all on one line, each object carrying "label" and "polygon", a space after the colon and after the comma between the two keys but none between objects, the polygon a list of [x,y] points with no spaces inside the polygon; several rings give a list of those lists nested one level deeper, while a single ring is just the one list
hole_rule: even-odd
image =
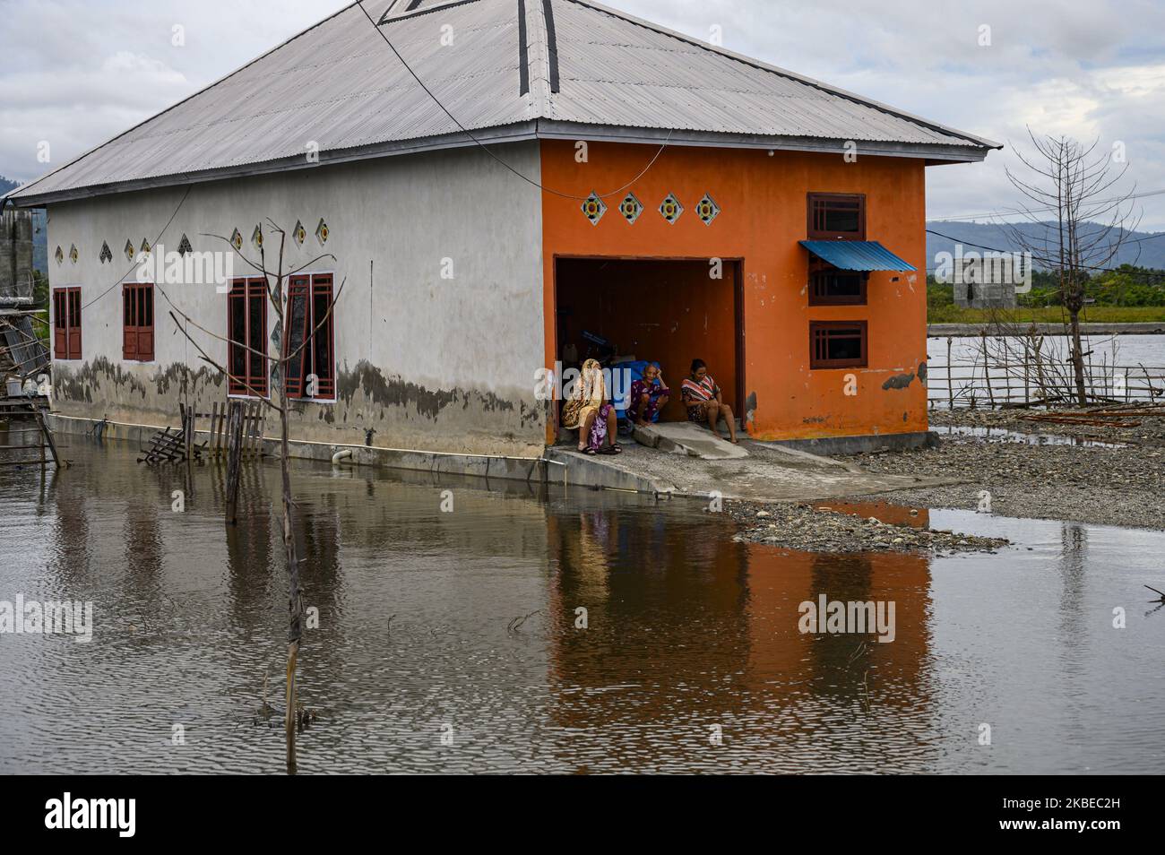
[{"label": "dark orange reflection of the house front in the water", "polygon": [[[712,522],[706,537],[693,525],[678,538],[671,520],[668,537],[654,531],[652,518],[659,517],[612,514],[599,542],[585,511],[549,520],[558,566],[550,606],[557,723],[650,725],[682,709],[714,720],[821,700],[842,711],[926,707],[925,557],[736,544],[713,534]],[[895,640],[802,634],[799,606],[820,594],[892,600]],[[588,612],[585,631],[573,627],[578,606]]]}]

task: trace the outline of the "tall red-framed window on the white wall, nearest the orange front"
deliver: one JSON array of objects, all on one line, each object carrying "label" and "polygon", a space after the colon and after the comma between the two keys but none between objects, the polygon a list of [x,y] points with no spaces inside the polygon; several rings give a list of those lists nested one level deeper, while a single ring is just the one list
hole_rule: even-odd
[{"label": "tall red-framed window on the white wall, nearest the orange front", "polygon": [[[336,342],[332,275],[292,276],[288,306],[288,361],[285,391],[289,398],[336,397]],[[315,389],[311,381],[315,380]],[[315,395],[311,393],[315,391]]]}]

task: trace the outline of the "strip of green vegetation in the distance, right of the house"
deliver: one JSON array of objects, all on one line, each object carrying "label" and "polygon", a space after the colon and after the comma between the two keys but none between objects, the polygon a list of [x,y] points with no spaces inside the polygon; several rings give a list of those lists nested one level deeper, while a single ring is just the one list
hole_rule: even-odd
[{"label": "strip of green vegetation in the distance, right of the house", "polygon": [[[1165,320],[1165,270],[1122,264],[1089,276],[1085,283],[1089,302],[1080,312],[1083,323],[1124,324]],[[1060,305],[1055,274],[1032,274],[1031,291],[1018,296],[1012,310],[966,309],[954,304],[954,288],[926,277],[927,319],[932,324],[1059,323],[1068,315]]]}]

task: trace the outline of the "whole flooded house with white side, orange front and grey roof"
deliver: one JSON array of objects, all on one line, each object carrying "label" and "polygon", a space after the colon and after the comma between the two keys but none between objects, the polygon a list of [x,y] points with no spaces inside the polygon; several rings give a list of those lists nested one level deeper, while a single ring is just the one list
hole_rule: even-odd
[{"label": "whole flooded house with white side, orange front and grey roof", "polygon": [[605,342],[704,359],[755,439],[910,444],[925,170],[993,148],[586,0],[368,0],[8,204],[48,210],[66,430],[270,395],[278,225],[297,443],[537,458],[539,370]]}]

